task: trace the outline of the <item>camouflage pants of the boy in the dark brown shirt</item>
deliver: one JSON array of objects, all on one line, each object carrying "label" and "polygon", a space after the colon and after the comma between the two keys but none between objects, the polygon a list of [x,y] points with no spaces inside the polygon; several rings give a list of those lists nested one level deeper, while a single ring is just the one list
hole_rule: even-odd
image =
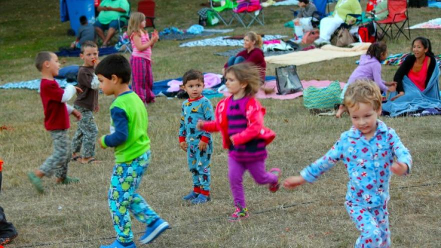
[{"label": "camouflage pants of the boy in the dark brown shirt", "polygon": [[[82,157],[95,156],[95,143],[98,136],[98,127],[91,110],[74,105],[83,117],[78,122],[78,129],[72,138],[72,152],[80,152]],[[81,149],[83,145],[83,149]]]}]

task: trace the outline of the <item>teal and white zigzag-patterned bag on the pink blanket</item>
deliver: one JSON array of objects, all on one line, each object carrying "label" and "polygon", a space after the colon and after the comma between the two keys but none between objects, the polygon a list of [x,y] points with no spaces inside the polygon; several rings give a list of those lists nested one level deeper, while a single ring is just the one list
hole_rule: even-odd
[{"label": "teal and white zigzag-patterned bag on the pink blanket", "polygon": [[303,90],[303,105],[306,108],[333,108],[340,103],[341,88],[338,81],[333,81],[327,87],[309,86]]}]

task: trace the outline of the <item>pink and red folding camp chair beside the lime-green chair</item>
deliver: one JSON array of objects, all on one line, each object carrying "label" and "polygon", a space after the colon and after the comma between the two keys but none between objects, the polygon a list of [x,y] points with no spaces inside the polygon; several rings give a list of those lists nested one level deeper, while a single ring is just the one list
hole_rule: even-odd
[{"label": "pink and red folding camp chair beside the lime-green chair", "polygon": [[265,25],[260,0],[237,0],[237,6],[233,8],[233,15],[244,27],[250,27],[254,21],[262,26]]}]

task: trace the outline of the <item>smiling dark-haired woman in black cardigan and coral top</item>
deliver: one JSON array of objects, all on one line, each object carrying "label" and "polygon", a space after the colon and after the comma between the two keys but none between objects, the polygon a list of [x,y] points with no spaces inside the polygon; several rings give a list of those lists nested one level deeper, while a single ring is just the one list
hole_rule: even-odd
[{"label": "smiling dark-haired woman in black cardigan and coral top", "polygon": [[407,76],[420,91],[423,91],[429,83],[436,66],[430,40],[422,36],[416,37],[412,42],[412,52],[413,54],[404,59],[393,77],[393,80],[397,82],[398,94],[390,100],[395,100],[404,94],[404,76]]}]

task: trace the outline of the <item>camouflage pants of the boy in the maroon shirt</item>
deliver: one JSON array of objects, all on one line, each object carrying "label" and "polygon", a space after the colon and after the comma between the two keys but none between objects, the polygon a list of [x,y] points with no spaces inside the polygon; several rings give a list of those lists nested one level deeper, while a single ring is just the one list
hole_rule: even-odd
[{"label": "camouflage pants of the boy in the maroon shirt", "polygon": [[39,170],[50,176],[55,173],[58,178],[66,178],[68,163],[71,160],[68,130],[53,130],[51,133],[54,151],[40,166]]}]

